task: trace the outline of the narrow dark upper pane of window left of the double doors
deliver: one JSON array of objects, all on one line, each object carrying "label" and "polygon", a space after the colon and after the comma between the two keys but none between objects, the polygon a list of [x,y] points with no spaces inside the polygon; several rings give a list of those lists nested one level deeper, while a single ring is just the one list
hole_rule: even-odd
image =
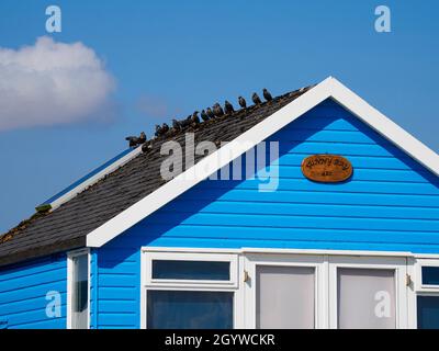
[{"label": "narrow dark upper pane of window left of the double doors", "polygon": [[230,263],[154,260],[153,279],[228,281],[230,280]]}]

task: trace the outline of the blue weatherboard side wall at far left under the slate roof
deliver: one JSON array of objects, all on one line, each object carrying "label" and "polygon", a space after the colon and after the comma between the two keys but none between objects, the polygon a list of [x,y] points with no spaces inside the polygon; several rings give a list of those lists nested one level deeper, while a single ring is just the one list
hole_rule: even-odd
[{"label": "blue weatherboard side wall at far left under the slate roof", "polygon": [[[46,294],[61,298],[61,316],[47,317]],[[66,256],[25,262],[0,270],[0,328],[66,328]]]}]

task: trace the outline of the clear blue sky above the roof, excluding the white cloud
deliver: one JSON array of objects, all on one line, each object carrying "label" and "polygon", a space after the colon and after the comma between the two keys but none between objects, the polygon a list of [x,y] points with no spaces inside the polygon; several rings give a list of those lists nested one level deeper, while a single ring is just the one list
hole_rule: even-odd
[{"label": "clear blue sky above the roof, excluding the white cloud", "polygon": [[[49,4],[61,33],[45,31]],[[392,11],[391,33],[374,31],[379,4]],[[124,150],[126,135],[263,87],[280,94],[335,76],[439,151],[434,0],[3,0],[0,16],[1,47],[81,42],[115,81],[104,122],[0,131],[0,233]]]}]

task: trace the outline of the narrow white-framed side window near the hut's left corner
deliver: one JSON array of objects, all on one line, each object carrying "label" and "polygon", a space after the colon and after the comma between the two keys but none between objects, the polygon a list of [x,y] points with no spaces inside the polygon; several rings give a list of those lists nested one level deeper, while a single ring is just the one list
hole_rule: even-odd
[{"label": "narrow white-framed side window near the hut's left corner", "polygon": [[68,259],[68,322],[71,329],[89,328],[89,253],[71,253]]}]

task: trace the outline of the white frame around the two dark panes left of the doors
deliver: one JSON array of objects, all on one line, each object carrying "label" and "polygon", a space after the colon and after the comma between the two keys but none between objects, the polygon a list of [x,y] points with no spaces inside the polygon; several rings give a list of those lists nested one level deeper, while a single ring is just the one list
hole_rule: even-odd
[{"label": "white frame around the two dark panes left of the doors", "polygon": [[[153,260],[181,261],[221,261],[230,263],[230,279],[228,281],[212,280],[165,280],[153,279]],[[241,303],[239,287],[239,258],[233,251],[200,249],[159,249],[142,248],[140,252],[140,328],[147,328],[147,292],[148,291],[199,291],[199,292],[232,292],[234,293],[233,328],[241,328],[241,316],[238,310]]]}]

